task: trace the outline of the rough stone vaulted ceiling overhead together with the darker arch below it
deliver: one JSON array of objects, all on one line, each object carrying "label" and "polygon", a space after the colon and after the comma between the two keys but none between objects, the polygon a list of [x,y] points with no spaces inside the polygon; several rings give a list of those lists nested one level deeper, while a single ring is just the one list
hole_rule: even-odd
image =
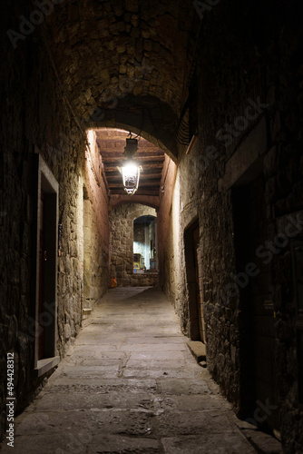
[{"label": "rough stone vaulted ceiling overhead together with the darker arch below it", "polygon": [[199,31],[191,0],[87,0],[56,5],[42,38],[76,123],[132,129],[176,163]]}]

